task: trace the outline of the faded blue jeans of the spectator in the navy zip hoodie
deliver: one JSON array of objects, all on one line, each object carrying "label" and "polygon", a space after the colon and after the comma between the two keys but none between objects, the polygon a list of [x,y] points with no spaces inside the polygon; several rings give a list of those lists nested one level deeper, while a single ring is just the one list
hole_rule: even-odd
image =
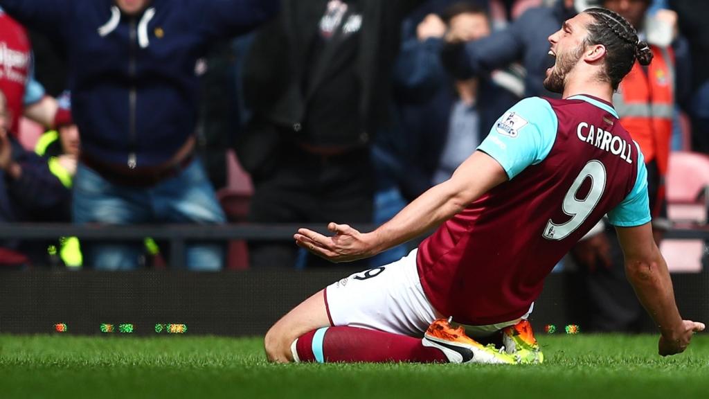
[{"label": "faded blue jeans of the spectator in the navy zip hoodie", "polygon": [[[199,160],[152,187],[116,185],[79,163],[74,177],[75,224],[222,224],[226,218]],[[96,270],[133,270],[144,252],[142,243],[86,243],[84,263]],[[83,246],[83,245],[82,245]],[[221,244],[189,244],[190,270],[220,270]]]}]

